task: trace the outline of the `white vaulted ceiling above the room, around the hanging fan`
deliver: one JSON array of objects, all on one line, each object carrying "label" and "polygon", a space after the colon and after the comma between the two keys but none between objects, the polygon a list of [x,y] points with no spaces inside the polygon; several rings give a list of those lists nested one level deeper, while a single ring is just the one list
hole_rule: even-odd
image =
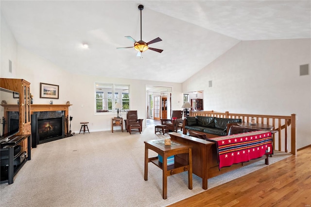
[{"label": "white vaulted ceiling above the room, around the hanging fan", "polygon": [[[133,42],[156,37],[136,56]],[[310,0],[1,0],[17,43],[72,73],[182,83],[243,40],[311,38]],[[82,44],[87,43],[88,49]]]}]

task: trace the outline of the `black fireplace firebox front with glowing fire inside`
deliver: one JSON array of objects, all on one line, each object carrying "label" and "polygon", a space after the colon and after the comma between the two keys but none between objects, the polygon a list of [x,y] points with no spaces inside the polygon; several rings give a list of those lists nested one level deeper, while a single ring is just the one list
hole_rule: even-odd
[{"label": "black fireplace firebox front with glowing fire inside", "polygon": [[62,118],[38,120],[39,140],[62,136]]}]

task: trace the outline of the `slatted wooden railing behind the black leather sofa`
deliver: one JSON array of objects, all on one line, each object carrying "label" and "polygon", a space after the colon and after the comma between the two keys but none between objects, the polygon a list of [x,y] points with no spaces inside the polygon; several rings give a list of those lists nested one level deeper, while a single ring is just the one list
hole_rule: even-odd
[{"label": "slatted wooden railing behind the black leather sofa", "polygon": [[[251,122],[255,119],[255,123],[263,123],[273,126],[276,133],[273,133],[273,146],[275,150],[290,152],[296,155],[296,114],[291,116],[275,116],[275,115],[258,115],[258,114],[234,114],[228,111],[190,111],[190,117],[206,116],[229,119],[242,119],[242,122]],[[277,137],[277,138],[276,138]],[[290,145],[290,146],[289,146]]]}]

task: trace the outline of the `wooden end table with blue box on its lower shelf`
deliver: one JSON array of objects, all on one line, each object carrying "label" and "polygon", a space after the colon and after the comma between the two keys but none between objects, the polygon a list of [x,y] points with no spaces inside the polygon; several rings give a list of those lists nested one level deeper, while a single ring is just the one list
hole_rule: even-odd
[{"label": "wooden end table with blue box on its lower shelf", "polygon": [[[167,177],[173,174],[182,173],[188,171],[188,188],[192,189],[192,155],[191,146],[180,144],[178,142],[172,141],[172,145],[165,145],[164,139],[154,139],[149,141],[144,141],[145,143],[145,175],[144,179],[148,180],[148,163],[152,162],[157,167],[162,169],[163,175],[163,199],[167,199]],[[163,158],[163,163],[159,162],[158,157],[148,157],[148,150],[153,150]],[[188,163],[179,163],[174,161],[173,165],[167,165],[167,158],[172,155],[178,154],[189,154]]]}]

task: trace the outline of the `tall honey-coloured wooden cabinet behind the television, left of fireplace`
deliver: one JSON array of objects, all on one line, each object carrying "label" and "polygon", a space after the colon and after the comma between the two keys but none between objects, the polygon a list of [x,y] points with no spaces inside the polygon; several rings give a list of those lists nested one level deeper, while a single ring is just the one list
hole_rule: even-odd
[{"label": "tall honey-coloured wooden cabinet behind the television, left of fireplace", "polygon": [[[4,108],[4,118],[8,111],[19,111],[19,132],[17,135],[31,134],[30,83],[24,79],[0,78],[0,87],[19,93],[19,104],[1,104]],[[23,150],[27,152],[28,140],[23,140]]]}]

